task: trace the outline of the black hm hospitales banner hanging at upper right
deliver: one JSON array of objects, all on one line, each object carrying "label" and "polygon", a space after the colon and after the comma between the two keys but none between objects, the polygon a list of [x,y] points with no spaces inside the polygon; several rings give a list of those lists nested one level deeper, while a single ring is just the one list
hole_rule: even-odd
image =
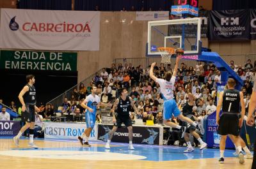
[{"label": "black hm hospitales banner hanging at upper right", "polygon": [[250,40],[250,10],[210,11],[209,40]]}]

